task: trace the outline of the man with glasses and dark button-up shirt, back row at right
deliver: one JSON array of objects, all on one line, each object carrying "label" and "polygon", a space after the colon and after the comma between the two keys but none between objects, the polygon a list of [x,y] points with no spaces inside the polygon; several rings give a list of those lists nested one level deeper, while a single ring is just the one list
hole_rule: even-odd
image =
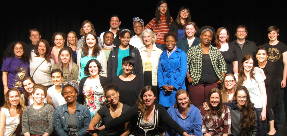
[{"label": "man with glasses and dark button-up shirt, back row at right", "polygon": [[255,42],[251,42],[249,40],[246,40],[245,38],[247,37],[247,28],[244,25],[239,25],[236,27],[236,37],[237,39],[230,42],[231,45],[233,45],[236,49],[237,52],[237,57],[238,57],[238,66],[240,66],[242,58],[250,54],[253,57],[255,56],[255,51],[257,49],[257,46]]}]

